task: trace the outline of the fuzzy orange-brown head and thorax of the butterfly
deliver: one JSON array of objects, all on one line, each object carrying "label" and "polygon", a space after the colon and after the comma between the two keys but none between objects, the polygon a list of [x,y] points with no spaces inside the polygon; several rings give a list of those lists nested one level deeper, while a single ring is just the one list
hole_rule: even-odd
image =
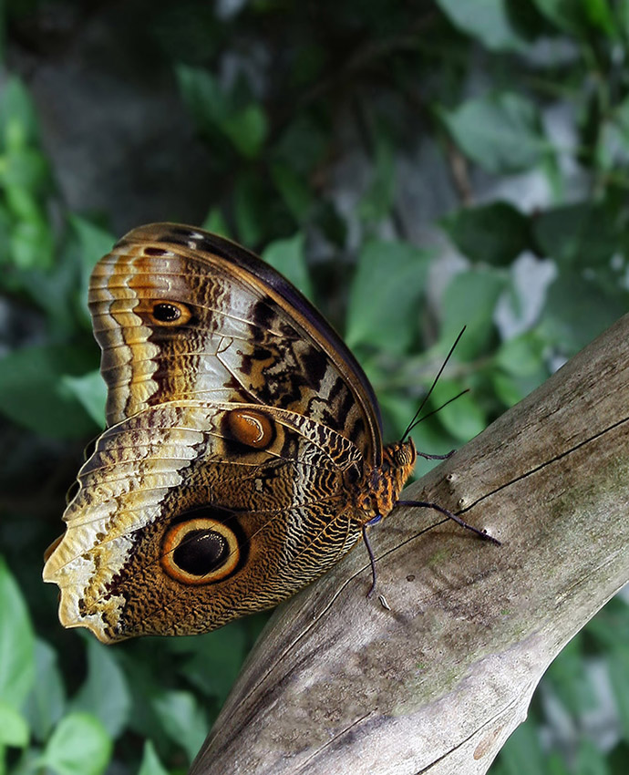
[{"label": "fuzzy orange-brown head and thorax of the butterfly", "polygon": [[396,505],[399,493],[407,482],[418,453],[412,439],[387,444],[383,449],[382,465],[369,474],[368,488],[358,495],[356,505],[365,524],[374,517],[386,517]]}]

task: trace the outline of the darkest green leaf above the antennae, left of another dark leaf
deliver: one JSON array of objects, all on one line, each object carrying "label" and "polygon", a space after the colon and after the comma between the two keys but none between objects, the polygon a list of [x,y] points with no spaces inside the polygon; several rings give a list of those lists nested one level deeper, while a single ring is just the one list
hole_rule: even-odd
[{"label": "darkest green leaf above the antennae, left of another dark leaf", "polygon": [[508,202],[459,210],[442,225],[470,261],[494,266],[508,265],[531,243],[529,219]]}]

